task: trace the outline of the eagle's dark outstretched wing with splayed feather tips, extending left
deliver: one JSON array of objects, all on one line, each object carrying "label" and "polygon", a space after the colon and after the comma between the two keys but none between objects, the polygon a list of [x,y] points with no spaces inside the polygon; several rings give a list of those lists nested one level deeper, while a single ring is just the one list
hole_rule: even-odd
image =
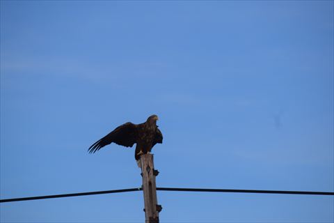
[{"label": "eagle's dark outstretched wing with splayed feather tips, extending left", "polygon": [[112,142],[121,145],[132,147],[137,142],[137,125],[134,123],[125,123],[118,126],[115,130],[107,134],[102,139],[98,140],[88,148],[89,153],[95,153],[103,146],[109,145]]}]

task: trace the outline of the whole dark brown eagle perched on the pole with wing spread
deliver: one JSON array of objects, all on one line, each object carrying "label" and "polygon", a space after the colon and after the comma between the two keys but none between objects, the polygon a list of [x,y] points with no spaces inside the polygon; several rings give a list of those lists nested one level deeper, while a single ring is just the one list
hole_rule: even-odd
[{"label": "whole dark brown eagle perched on the pole with wing spread", "polygon": [[155,144],[162,144],[162,134],[158,128],[157,115],[148,117],[145,123],[134,124],[125,123],[107,134],[102,139],[96,141],[88,148],[89,153],[95,153],[100,148],[113,143],[120,146],[132,147],[136,144],[134,158],[138,162],[141,155],[150,153]]}]

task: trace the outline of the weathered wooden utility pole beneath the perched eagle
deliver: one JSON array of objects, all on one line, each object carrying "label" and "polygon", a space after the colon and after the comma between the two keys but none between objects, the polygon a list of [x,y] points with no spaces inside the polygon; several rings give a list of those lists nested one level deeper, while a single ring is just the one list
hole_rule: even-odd
[{"label": "weathered wooden utility pole beneath the perched eagle", "polygon": [[157,204],[155,177],[159,171],[154,169],[153,155],[141,155],[141,176],[143,177],[143,193],[145,203],[145,223],[159,223],[161,205]]}]

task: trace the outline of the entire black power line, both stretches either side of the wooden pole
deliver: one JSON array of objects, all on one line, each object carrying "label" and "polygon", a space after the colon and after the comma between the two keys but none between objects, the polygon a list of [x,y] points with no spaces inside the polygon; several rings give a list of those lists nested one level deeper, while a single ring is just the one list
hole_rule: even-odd
[{"label": "entire black power line, both stretches either side of the wooden pole", "polygon": [[[59,197],[77,197],[94,194],[112,194],[121,192],[134,192],[143,190],[142,187],[122,189],[122,190],[104,190],[96,192],[84,192],[73,194],[56,194],[38,197],[21,197],[13,199],[0,199],[0,203],[13,201],[29,201],[38,199],[50,199]],[[235,193],[257,193],[257,194],[304,194],[304,195],[334,195],[334,192],[316,192],[316,191],[287,191],[287,190],[234,190],[234,189],[205,189],[205,188],[177,188],[177,187],[157,187],[161,191],[180,191],[180,192],[235,192]]]}]

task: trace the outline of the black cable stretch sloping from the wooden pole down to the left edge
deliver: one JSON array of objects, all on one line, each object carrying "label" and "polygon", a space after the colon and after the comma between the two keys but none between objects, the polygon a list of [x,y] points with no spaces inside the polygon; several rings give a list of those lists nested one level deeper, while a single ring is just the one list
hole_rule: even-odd
[{"label": "black cable stretch sloping from the wooden pole down to the left edge", "polygon": [[12,201],[49,199],[49,198],[58,198],[58,197],[76,197],[76,196],[86,196],[86,195],[94,195],[94,194],[112,194],[112,193],[121,193],[121,192],[132,192],[132,191],[138,191],[138,190],[143,190],[143,189],[140,187],[140,188],[130,188],[130,189],[122,189],[122,190],[104,190],[104,191],[84,192],[84,193],[74,193],[74,194],[56,194],[56,195],[47,195],[47,196],[39,196],[39,197],[21,197],[21,198],[13,198],[13,199],[0,199],[0,203],[12,202]]}]

